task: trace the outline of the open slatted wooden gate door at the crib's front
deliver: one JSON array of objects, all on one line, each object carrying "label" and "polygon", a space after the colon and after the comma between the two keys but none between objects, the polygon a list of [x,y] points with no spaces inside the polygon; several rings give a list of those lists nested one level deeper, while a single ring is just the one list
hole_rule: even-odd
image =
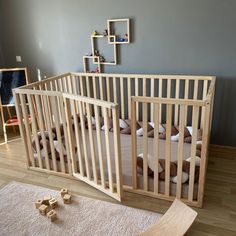
[{"label": "open slatted wooden gate door at the crib's front", "polygon": [[121,201],[118,105],[70,94],[64,99],[72,175]]}]

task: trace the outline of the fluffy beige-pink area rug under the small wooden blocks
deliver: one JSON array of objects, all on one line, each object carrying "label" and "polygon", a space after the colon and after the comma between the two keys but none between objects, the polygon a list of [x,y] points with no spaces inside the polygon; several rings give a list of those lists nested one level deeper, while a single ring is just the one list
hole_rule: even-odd
[{"label": "fluffy beige-pink area rug under the small wooden blocks", "polygon": [[[59,200],[53,223],[34,206],[48,194]],[[72,200],[65,205],[58,191],[11,182],[0,190],[0,235],[139,235],[162,216],[81,196]]]}]

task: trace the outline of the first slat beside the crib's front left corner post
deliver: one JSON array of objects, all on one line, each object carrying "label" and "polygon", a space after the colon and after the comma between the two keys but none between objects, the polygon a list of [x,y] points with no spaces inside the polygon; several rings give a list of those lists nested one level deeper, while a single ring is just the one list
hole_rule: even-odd
[{"label": "first slat beside the crib's front left corner post", "polygon": [[22,113],[23,113],[23,118],[24,118],[23,123],[25,124],[29,157],[30,157],[30,161],[31,161],[32,165],[35,166],[35,160],[34,160],[34,155],[33,155],[34,152],[33,152],[33,148],[32,148],[32,140],[31,140],[31,131],[30,131],[31,129],[30,129],[30,124],[29,124],[25,95],[20,94],[20,102],[21,102],[21,108],[22,108]]}]

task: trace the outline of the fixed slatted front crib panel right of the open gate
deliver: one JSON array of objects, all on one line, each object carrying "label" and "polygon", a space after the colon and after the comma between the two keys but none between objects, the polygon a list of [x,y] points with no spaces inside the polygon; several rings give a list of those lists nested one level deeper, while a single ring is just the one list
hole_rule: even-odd
[{"label": "fixed slatted front crib panel right of the open gate", "polygon": [[[136,109],[137,104],[140,104],[142,108],[142,122],[143,122],[143,183],[138,186],[138,173],[137,173],[137,135],[136,135]],[[148,153],[148,106],[153,104],[154,114],[154,142],[153,142],[153,162],[154,162],[154,181],[153,186],[149,186],[149,153]],[[211,112],[212,100],[209,102],[198,101],[198,100],[174,100],[165,98],[150,98],[150,97],[131,97],[131,124],[132,124],[132,191],[141,193],[148,196],[158,197],[166,200],[174,200],[175,198],[181,199],[182,201],[193,206],[202,206],[203,191],[204,191],[204,179],[206,174],[206,163],[207,163],[207,149],[210,132],[210,120],[209,116]],[[179,122],[174,123],[175,108],[178,106]],[[165,108],[164,121],[160,120],[160,110]],[[195,179],[195,167],[198,166],[196,158],[196,147],[197,147],[197,131],[201,127],[201,112],[205,110],[206,116],[203,127],[202,137],[202,148],[201,148],[201,159],[200,159],[200,170],[199,177]],[[191,116],[192,127],[192,141],[191,141],[191,152],[190,152],[190,170],[189,179],[185,184],[188,184],[187,197],[182,196],[182,175],[183,175],[183,160],[184,160],[184,129],[187,126],[187,116]],[[160,179],[159,179],[159,124],[166,124],[166,141],[165,141],[165,180],[164,180],[164,192],[160,192]],[[177,183],[176,190],[171,191],[171,127],[172,125],[179,126],[179,138],[178,138],[178,158],[177,164]],[[163,158],[163,157],[162,157]],[[198,184],[198,189],[195,189],[195,183]],[[128,189],[129,190],[129,189]],[[172,193],[171,193],[172,192]]]}]

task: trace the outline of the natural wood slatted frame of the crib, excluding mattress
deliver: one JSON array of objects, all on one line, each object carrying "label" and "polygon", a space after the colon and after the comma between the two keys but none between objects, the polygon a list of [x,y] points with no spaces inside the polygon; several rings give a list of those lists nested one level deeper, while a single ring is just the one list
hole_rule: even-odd
[{"label": "natural wood slatted frame of the crib, excluding mattress", "polygon": [[[208,144],[212,120],[215,77],[141,74],[66,73],[14,90],[20,131],[27,153],[28,168],[80,179],[121,200],[123,190],[202,207],[207,167]],[[29,104],[27,107],[26,102]],[[78,117],[79,114],[79,117]],[[32,126],[26,119],[31,116]],[[95,123],[92,122],[94,117]],[[119,119],[132,125],[132,185],[123,186]],[[100,119],[105,130],[101,131]],[[87,123],[86,123],[87,121]],[[143,188],[137,186],[136,121],[143,121]],[[154,127],[154,190],[148,187],[147,123],[166,124],[165,192],[158,190],[158,128]],[[112,122],[113,139],[108,136]],[[87,126],[86,126],[87,125]],[[171,126],[179,126],[178,171],[176,194],[170,194]],[[193,129],[188,197],[181,195],[181,176],[185,126]],[[93,136],[93,129],[96,135]],[[193,198],[197,130],[203,130],[197,199]],[[59,157],[54,148],[52,129],[59,142]],[[46,137],[46,134],[47,137]],[[89,133],[89,144],[85,140]],[[101,143],[105,132],[105,143]],[[41,140],[39,140],[39,134]],[[62,140],[63,136],[63,140]],[[35,147],[32,145],[34,139]],[[46,143],[46,138],[49,144]],[[110,155],[110,143],[115,155]],[[97,147],[95,148],[95,143]],[[65,146],[66,155],[63,153]],[[106,165],[101,145],[106,146]],[[41,148],[45,151],[42,157]],[[48,153],[51,150],[51,155]],[[80,155],[80,150],[84,155]],[[88,152],[89,151],[89,152]],[[88,155],[90,153],[90,155]],[[77,166],[79,163],[79,167]],[[115,163],[112,170],[111,163]],[[98,163],[98,164],[97,164]],[[107,175],[107,176],[106,176]]]}]

